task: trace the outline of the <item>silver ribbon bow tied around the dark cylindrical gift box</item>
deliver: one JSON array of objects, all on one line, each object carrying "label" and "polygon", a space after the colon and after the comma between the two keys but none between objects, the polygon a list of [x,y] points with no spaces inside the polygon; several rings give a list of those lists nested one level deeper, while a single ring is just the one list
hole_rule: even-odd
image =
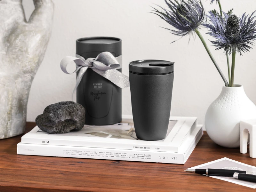
[{"label": "silver ribbon bow tied around the dark cylindrical gift box", "polygon": [[[68,73],[68,64],[76,64],[76,70],[72,73]],[[110,52],[102,52],[96,58],[88,58],[86,60],[80,55],[76,55],[76,57],[66,56],[60,62],[60,68],[66,74],[76,73],[80,69],[76,77],[76,86],[72,94],[72,99],[76,88],[88,68],[91,68],[94,72],[105,77],[120,88],[129,87],[129,77],[116,70],[116,68],[119,67],[119,62]]]}]

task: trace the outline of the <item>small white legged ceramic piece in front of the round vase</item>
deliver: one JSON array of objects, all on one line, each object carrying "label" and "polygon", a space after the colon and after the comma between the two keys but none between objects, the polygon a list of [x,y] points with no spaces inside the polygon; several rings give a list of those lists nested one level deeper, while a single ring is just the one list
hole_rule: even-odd
[{"label": "small white legged ceramic piece in front of the round vase", "polygon": [[248,133],[250,138],[250,157],[256,158],[256,119],[240,122],[240,153],[247,153]]}]

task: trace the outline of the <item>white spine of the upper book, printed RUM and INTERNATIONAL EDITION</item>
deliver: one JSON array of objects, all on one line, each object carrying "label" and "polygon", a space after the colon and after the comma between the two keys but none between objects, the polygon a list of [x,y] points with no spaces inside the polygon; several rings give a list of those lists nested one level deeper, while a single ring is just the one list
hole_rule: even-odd
[{"label": "white spine of the upper book, printed RUM and INTERNATIONAL EDITION", "polygon": [[[143,150],[143,151],[159,151],[159,152],[178,152],[177,146],[161,146],[161,145],[141,145],[131,143],[112,143],[100,141],[79,141],[79,140],[55,140],[55,139],[38,139],[38,138],[21,138],[22,143],[42,144],[42,145],[60,145],[74,147],[93,147],[93,148],[112,148],[127,150]],[[161,142],[161,141],[159,141]],[[162,142],[161,142],[162,143]]]}]

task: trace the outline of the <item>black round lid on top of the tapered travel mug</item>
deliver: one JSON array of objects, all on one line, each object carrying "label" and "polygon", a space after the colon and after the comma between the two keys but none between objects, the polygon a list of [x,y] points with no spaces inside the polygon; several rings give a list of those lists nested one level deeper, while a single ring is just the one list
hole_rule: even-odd
[{"label": "black round lid on top of the tapered travel mug", "polygon": [[129,63],[129,71],[141,75],[164,75],[174,71],[174,62],[164,60],[137,60]]}]

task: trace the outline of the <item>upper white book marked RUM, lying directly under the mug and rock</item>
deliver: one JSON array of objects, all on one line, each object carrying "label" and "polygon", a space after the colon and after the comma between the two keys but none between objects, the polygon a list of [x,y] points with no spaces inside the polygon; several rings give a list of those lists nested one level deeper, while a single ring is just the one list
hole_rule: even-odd
[{"label": "upper white book marked RUM, lying directly under the mug and rock", "polygon": [[134,126],[120,123],[106,126],[84,125],[80,131],[49,134],[37,126],[21,137],[22,143],[76,147],[178,152],[184,139],[196,127],[196,117],[170,117],[166,138],[138,140]]}]

